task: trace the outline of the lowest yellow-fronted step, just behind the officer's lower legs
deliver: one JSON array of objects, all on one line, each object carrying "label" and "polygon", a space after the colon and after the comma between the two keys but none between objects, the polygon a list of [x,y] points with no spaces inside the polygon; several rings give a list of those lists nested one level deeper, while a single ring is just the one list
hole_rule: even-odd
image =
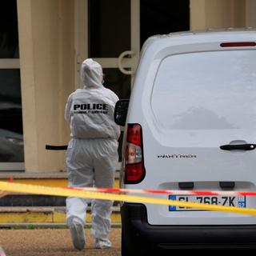
[{"label": "lowest yellow-fronted step, just behind the officer's lower legs", "polygon": [[[114,206],[111,214],[111,221],[113,225],[120,225],[120,207]],[[37,225],[61,225],[66,224],[66,207],[0,207],[0,227],[13,225],[30,225],[31,223]],[[91,212],[88,207],[86,214],[86,223],[91,223]]]}]

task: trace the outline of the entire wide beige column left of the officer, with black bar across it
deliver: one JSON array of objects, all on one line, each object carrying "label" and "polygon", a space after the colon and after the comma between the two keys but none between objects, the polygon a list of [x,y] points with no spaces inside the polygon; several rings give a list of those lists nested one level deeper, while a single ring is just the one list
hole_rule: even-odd
[{"label": "entire wide beige column left of the officer, with black bar across it", "polygon": [[65,154],[45,145],[69,139],[63,109],[74,90],[74,4],[17,2],[26,171],[63,170]]}]

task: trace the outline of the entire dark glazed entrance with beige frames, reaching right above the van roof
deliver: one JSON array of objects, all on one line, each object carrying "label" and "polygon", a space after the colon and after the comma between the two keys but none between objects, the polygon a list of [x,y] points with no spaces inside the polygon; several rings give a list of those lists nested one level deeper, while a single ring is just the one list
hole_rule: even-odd
[{"label": "entire dark glazed entrance with beige frames, reaching right above the van roof", "polygon": [[[139,52],[146,38],[190,29],[190,0],[76,0],[75,85],[85,58],[102,64],[104,86],[130,98]],[[121,160],[122,136],[119,140]]]}]

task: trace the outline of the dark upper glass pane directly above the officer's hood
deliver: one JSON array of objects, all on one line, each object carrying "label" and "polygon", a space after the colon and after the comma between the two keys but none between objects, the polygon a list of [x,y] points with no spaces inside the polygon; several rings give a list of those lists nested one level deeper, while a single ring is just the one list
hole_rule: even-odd
[{"label": "dark upper glass pane directly above the officer's hood", "polygon": [[130,49],[130,0],[90,0],[89,57],[117,58]]}]

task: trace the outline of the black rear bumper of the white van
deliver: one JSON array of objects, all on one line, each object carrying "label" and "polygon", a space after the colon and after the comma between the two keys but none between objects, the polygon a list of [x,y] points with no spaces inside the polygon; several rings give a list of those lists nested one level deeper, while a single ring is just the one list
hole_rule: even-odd
[{"label": "black rear bumper of the white van", "polygon": [[137,250],[256,248],[255,225],[153,226],[147,221],[146,206],[135,203],[124,203],[121,214],[122,239]]}]

